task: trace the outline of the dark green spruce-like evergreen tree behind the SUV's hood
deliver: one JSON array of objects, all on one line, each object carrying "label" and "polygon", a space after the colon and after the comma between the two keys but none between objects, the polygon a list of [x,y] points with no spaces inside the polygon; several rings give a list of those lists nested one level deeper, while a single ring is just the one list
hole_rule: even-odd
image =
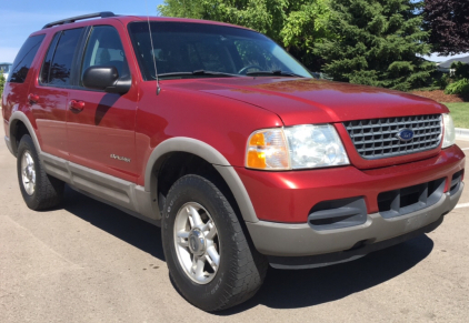
[{"label": "dark green spruce-like evergreen tree behind the SUV's hood", "polygon": [[326,26],[336,39],[317,44],[335,80],[407,91],[423,85],[435,64],[415,0],[335,0]]}]

